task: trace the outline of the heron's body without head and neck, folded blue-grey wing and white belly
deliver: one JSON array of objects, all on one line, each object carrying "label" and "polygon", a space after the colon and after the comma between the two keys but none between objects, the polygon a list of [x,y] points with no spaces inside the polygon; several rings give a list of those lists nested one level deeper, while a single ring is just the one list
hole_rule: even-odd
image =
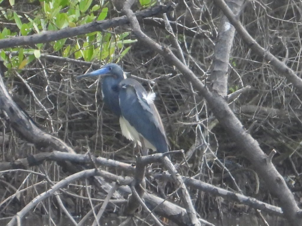
[{"label": "heron's body without head and neck, folded blue-grey wing and white belly", "polygon": [[129,140],[155,151],[169,151],[168,140],[159,113],[153,103],[154,93],[132,78],[122,80],[119,85],[120,127]]}]

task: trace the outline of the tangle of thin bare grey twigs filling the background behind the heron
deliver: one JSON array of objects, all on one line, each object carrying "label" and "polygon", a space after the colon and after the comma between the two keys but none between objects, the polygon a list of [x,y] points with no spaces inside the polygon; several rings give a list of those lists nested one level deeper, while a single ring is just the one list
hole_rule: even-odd
[{"label": "tangle of thin bare grey twigs filling the background behind the heron", "polygon": [[[300,77],[301,2],[278,0],[250,1],[244,4],[240,21],[248,33],[260,46]],[[221,11],[212,1],[181,1],[168,16],[174,24],[177,22],[188,28],[181,30],[178,27],[178,30],[172,26],[173,34],[179,41],[188,68],[210,88],[213,80],[209,75],[215,40],[221,29]],[[148,18],[141,22],[141,28],[158,43],[170,46],[172,52],[179,54],[177,45],[173,44],[172,34],[163,29],[160,22],[164,24],[161,15],[158,18]],[[129,26],[123,25],[110,32],[127,30]],[[69,41],[73,42],[72,38]],[[246,86],[251,88],[229,103],[229,106],[267,155],[273,149],[277,151],[272,162],[288,183],[296,200],[300,200],[301,91],[266,61],[264,56],[252,51],[250,47],[236,33],[228,62],[228,94]],[[85,163],[77,163],[76,168],[97,166],[120,177],[133,177],[134,171],[125,169],[126,166],[122,163],[136,164],[137,149],[121,135],[118,119],[103,106],[98,82],[75,80],[77,75],[92,68],[96,69],[104,62],[94,62],[91,65],[61,57],[60,54],[52,49],[45,49],[43,55],[26,68],[18,72],[6,72],[3,79],[9,93],[41,130],[60,138],[76,153],[100,156],[104,158],[102,161],[114,159],[120,162],[120,165],[112,167],[113,163],[94,162],[93,157],[89,157]],[[53,55],[57,58],[53,58]],[[115,61],[117,57],[118,55],[111,60]],[[134,76],[147,90],[157,93],[156,106],[171,149],[184,150],[185,153],[185,159],[182,153],[172,155],[172,162],[182,176],[194,177],[196,180],[279,206],[276,197],[268,192],[262,175],[257,173],[250,159],[246,159],[242,146],[234,142],[234,137],[215,118],[204,96],[200,95],[194,84],[178,69],[142,42],[132,44],[130,52],[119,64],[124,71],[129,72],[128,76]],[[9,121],[5,121],[5,115],[2,115],[1,130],[2,136],[4,134],[3,139],[0,138],[2,162],[14,162],[40,152],[54,151],[51,147],[28,143],[20,133],[16,133]],[[69,171],[68,166],[53,159],[34,165],[36,166],[27,165],[27,171],[15,170],[0,174],[2,218],[14,216],[38,194],[74,173]],[[153,163],[148,168],[146,191],[182,206],[177,188],[173,181],[165,178],[162,170],[165,171],[166,168],[160,163]],[[119,184],[112,184],[112,178],[105,181],[108,184],[100,185],[92,177],[88,177],[70,182],[68,186],[62,187],[64,191],[59,190],[62,204],[55,196],[51,196],[34,206],[33,212],[39,215],[50,211],[64,212],[67,215],[63,210],[65,206],[71,215],[84,216],[92,206],[104,201],[100,199],[110,199],[108,193],[111,192],[112,199],[105,214],[122,215],[127,202],[124,193],[121,190],[115,191]],[[213,210],[218,213],[218,217],[229,212],[255,214],[254,209],[249,208],[248,204],[242,206],[237,199],[220,199],[193,185],[188,188],[193,205],[203,218],[213,214]],[[130,193],[129,188],[126,193]],[[151,200],[144,200],[148,207],[152,206]],[[274,211],[276,215],[282,215],[280,209],[279,213]],[[137,215],[146,217],[146,213],[144,209]],[[149,220],[150,218],[148,215]],[[173,218],[172,220],[180,225],[186,223]],[[154,218],[151,221],[154,223]]]}]

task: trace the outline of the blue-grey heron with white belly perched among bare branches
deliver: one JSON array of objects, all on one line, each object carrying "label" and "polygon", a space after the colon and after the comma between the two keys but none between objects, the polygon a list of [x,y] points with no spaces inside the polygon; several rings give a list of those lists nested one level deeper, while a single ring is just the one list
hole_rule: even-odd
[{"label": "blue-grey heron with white belly perched among bare branches", "polygon": [[165,153],[169,142],[159,112],[155,93],[148,93],[137,80],[127,78],[118,64],[106,64],[96,71],[77,77],[101,77],[105,105],[119,117],[121,132],[141,147]]}]

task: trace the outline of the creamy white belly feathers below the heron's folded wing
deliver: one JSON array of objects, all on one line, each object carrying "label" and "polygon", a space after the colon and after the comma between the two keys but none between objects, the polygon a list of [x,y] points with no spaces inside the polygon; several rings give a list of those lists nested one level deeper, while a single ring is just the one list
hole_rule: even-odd
[{"label": "creamy white belly feathers below the heron's folded wing", "polygon": [[120,117],[120,129],[122,130],[124,137],[126,137],[128,140],[135,141],[139,146],[142,146],[140,140],[140,138],[142,138],[146,148],[156,151],[156,148],[148,140],[146,140],[142,134],[138,133],[137,130],[122,116]]}]

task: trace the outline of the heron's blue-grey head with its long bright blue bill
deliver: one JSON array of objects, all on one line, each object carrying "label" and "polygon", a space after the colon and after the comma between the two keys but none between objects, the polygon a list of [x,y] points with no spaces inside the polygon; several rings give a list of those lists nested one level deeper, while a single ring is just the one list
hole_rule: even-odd
[{"label": "heron's blue-grey head with its long bright blue bill", "polygon": [[102,68],[92,71],[83,75],[79,75],[77,79],[84,77],[97,77],[97,76],[105,76],[112,77],[114,80],[121,81],[126,78],[124,75],[123,69],[117,64],[106,64]]}]

